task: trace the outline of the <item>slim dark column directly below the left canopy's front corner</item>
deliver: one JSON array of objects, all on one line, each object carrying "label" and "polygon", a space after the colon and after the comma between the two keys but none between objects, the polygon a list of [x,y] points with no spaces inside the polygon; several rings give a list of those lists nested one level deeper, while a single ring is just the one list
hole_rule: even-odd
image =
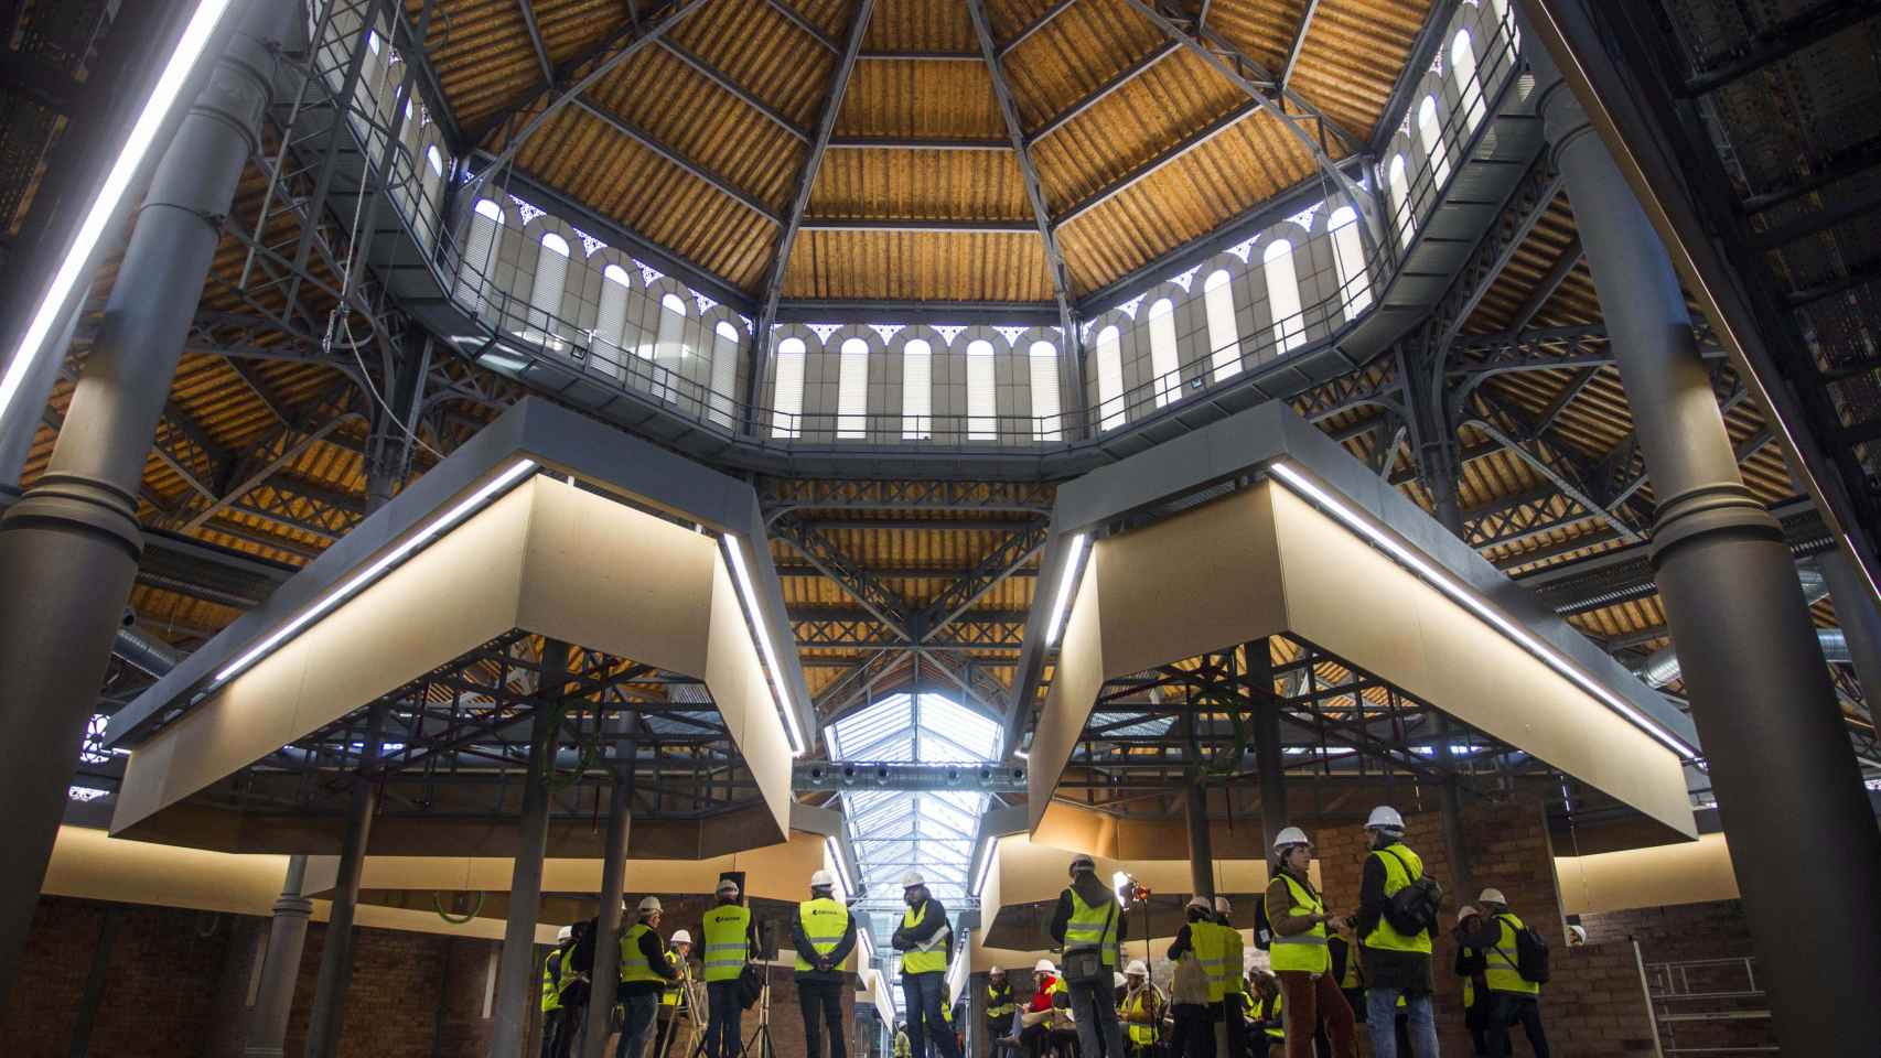
[{"label": "slim dark column directly below the left canopy's front corner", "polygon": [[502,955],[497,962],[497,1026],[491,1058],[523,1058],[529,1050],[529,1017],[538,992],[536,915],[542,911],[542,857],[549,848],[547,772],[555,763],[549,735],[561,708],[568,673],[568,645],[547,639],[542,645],[542,680],[529,725],[529,772],[523,778],[523,808],[515,834],[515,868],[510,872],[510,921],[502,928]]}]

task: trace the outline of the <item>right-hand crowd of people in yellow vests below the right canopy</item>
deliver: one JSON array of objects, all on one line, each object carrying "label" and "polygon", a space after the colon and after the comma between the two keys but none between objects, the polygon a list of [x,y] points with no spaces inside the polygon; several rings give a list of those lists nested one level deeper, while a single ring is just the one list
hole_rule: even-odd
[{"label": "right-hand crowd of people in yellow vests below the right canopy", "polygon": [[[1287,827],[1275,836],[1264,898],[1272,972],[1243,972],[1243,938],[1228,921],[1225,898],[1191,900],[1168,949],[1176,966],[1166,996],[1151,985],[1142,960],[1117,972],[1123,906],[1089,857],[1074,859],[1050,926],[1065,949],[1065,966],[1040,960],[1033,998],[1023,1005],[1012,1000],[1004,972],[991,972],[986,1017],[995,1054],[1354,1058],[1356,1026],[1364,1022],[1371,1054],[1435,1058],[1431,941],[1441,889],[1403,842],[1405,823],[1394,808],[1373,810],[1366,832],[1369,848],[1352,915],[1332,913],[1315,889],[1307,834]],[[1520,1022],[1535,1054],[1546,1058],[1539,1005],[1546,970],[1537,970],[1525,951],[1539,938],[1501,891],[1484,889],[1477,906],[1458,913],[1456,941],[1475,1054],[1510,1054],[1509,1032]]]}]

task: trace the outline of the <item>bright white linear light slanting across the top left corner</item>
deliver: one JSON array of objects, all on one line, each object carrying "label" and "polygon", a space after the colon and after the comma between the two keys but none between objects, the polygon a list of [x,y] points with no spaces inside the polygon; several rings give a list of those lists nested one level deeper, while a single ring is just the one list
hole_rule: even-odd
[{"label": "bright white linear light slanting across the top left corner", "polygon": [[[58,271],[53,272],[45,299],[40,301],[40,308],[32,314],[32,321],[19,340],[19,348],[13,350],[13,359],[6,374],[0,376],[0,419],[6,419],[13,398],[26,383],[26,372],[32,370],[34,361],[47,355],[55,340],[55,329],[66,314],[66,304],[73,299],[85,278],[87,263],[98,248],[98,241],[111,227],[119,207],[124,205],[124,195],[130,192],[137,169],[143,165],[145,156],[150,154],[150,147],[156,145],[158,130],[164,128],[169,109],[177,103],[177,96],[182,94],[182,86],[190,81],[190,71],[201,58],[229,4],[231,0],[201,0],[196,6],[196,13],[190,15],[190,23],[182,28],[177,49],[169,53],[169,62],[164,64],[162,75],[158,75],[156,85],[150,88],[150,98],[137,115],[130,137],[124,139],[124,148],[119,150],[117,162],[111,163],[103,186],[98,188],[98,197],[92,199],[85,222],[79,224],[77,237],[71,241],[71,246],[66,246],[66,257],[58,263]],[[38,415],[40,410],[30,408],[21,413]]]}]

